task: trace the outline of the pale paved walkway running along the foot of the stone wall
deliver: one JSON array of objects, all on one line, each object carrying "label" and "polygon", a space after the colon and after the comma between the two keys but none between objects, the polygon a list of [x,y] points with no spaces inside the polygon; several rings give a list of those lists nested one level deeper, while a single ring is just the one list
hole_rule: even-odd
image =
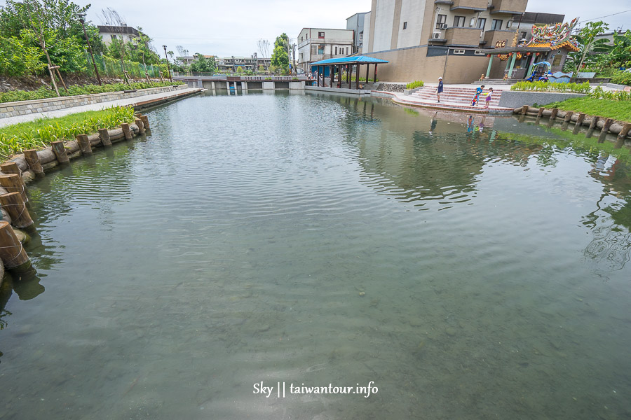
[{"label": "pale paved walkway running along the foot of the stone wall", "polygon": [[100,111],[102,109],[111,108],[111,106],[141,106],[148,105],[152,102],[161,102],[165,99],[175,99],[180,96],[186,96],[195,92],[200,92],[199,87],[187,87],[182,90],[174,90],[171,92],[162,92],[147,94],[141,97],[118,99],[116,101],[100,102],[99,104],[72,106],[71,108],[57,109],[57,111],[48,111],[40,113],[27,114],[25,116],[9,117],[0,119],[0,127],[6,125],[13,125],[19,123],[26,123],[27,121],[38,120],[39,118],[56,118],[67,116],[73,113],[85,112],[85,111]]}]

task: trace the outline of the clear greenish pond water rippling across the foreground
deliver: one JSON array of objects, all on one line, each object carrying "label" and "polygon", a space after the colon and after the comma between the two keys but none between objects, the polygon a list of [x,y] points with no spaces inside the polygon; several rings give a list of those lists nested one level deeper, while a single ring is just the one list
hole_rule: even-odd
[{"label": "clear greenish pond water rippling across the foreground", "polygon": [[432,116],[195,97],[31,184],[0,418],[629,418],[627,169]]}]

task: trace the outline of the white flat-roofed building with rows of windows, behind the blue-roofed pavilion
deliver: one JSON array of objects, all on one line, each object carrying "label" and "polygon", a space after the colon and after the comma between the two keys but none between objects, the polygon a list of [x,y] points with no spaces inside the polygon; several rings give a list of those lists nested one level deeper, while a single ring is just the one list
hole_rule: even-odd
[{"label": "white flat-roofed building with rows of windows, behind the blue-roofed pavilion", "polygon": [[309,71],[309,63],[353,54],[355,31],[303,28],[298,34],[297,68]]}]

